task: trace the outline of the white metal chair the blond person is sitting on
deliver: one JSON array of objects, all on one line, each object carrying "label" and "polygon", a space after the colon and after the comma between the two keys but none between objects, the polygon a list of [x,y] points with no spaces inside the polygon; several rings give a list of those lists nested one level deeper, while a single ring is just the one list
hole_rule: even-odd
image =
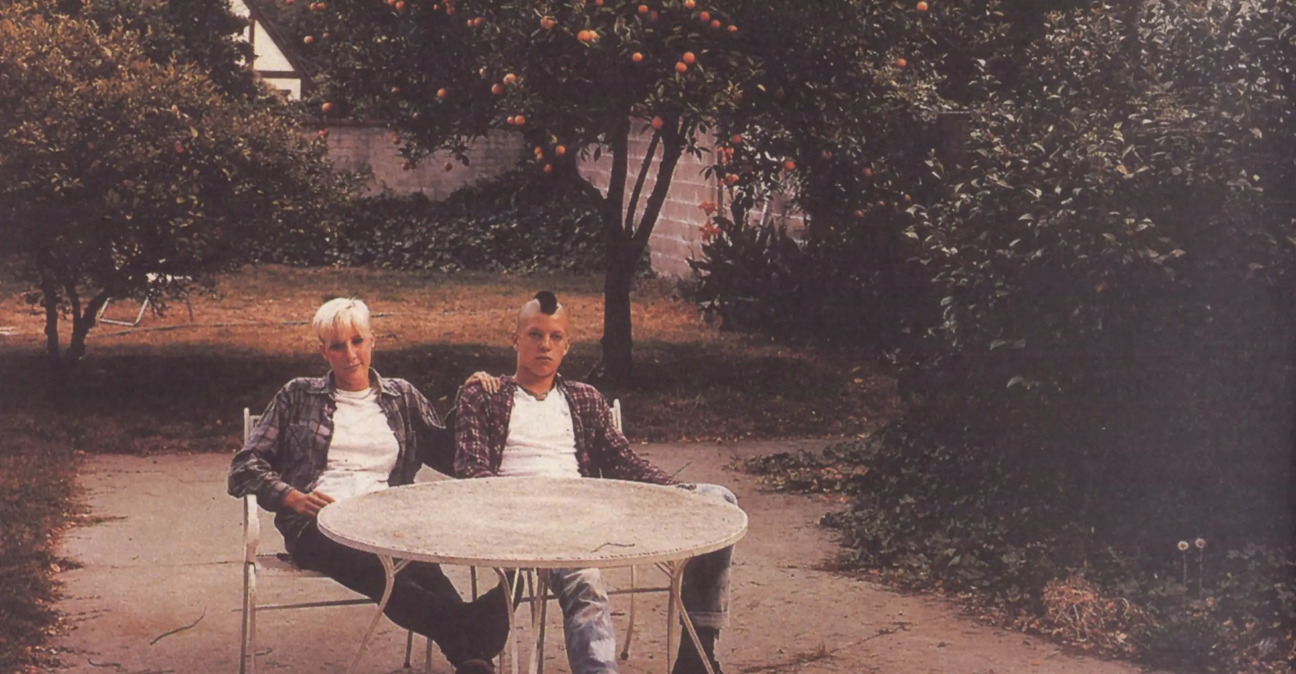
[{"label": "white metal chair the blond person is sitting on", "polygon": [[[251,415],[244,408],[244,442],[251,434],[253,426],[260,416]],[[303,601],[297,604],[257,604],[257,577],[260,574],[290,577],[290,578],[327,578],[321,573],[302,569],[292,563],[286,553],[258,553],[260,546],[260,517],[257,511],[257,498],[244,496],[244,596],[242,596],[242,629],[240,638],[238,673],[257,674],[257,614],[263,610],[285,610],[294,608],[320,608],[320,607],[350,607],[355,604],[376,604],[369,598],[340,599],[333,601]],[[406,635],[404,666],[410,666],[410,655],[413,651],[413,633]],[[424,652],[424,673],[432,674],[432,639],[428,639]]]}]

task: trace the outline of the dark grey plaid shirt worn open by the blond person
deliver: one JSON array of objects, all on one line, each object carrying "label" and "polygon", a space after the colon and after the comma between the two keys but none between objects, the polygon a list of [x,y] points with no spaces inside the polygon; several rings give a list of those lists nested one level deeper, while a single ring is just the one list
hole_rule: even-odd
[{"label": "dark grey plaid shirt worn open by the blond person", "polygon": [[[454,434],[426,398],[412,384],[382,378],[369,371],[369,381],[381,391],[378,407],[397,437],[399,452],[388,485],[413,482],[420,465],[454,473]],[[295,538],[311,518],[284,507],[289,490],[302,493],[324,473],[333,441],[333,373],[298,377],[275,394],[229,467],[229,495],[253,494],[262,508],[275,513],[275,526]]]}]

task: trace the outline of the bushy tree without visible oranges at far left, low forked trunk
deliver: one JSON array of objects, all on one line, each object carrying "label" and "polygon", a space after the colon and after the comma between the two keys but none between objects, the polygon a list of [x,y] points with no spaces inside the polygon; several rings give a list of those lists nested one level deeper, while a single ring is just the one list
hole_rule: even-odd
[{"label": "bushy tree without visible oranges at far left, low forked trunk", "polygon": [[108,298],[183,293],[350,187],[283,110],[150,61],[119,26],[0,9],[0,248],[44,305],[56,368],[61,312],[74,362]]}]

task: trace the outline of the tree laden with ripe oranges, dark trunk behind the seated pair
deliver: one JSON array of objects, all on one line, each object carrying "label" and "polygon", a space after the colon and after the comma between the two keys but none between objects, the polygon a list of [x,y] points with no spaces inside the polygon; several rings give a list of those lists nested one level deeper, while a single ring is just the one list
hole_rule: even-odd
[{"label": "tree laden with ripe oranges, dark trunk behind the seated pair", "polygon": [[[923,49],[916,4],[841,0],[330,0],[302,36],[327,115],[391,119],[417,161],[491,130],[521,134],[537,171],[610,156],[604,373],[631,373],[630,285],[684,153],[710,153],[739,207],[806,161],[859,158],[858,126]],[[308,40],[307,40],[308,38]],[[820,134],[816,128],[823,127]],[[792,134],[780,130],[792,128]],[[651,131],[631,180],[630,139]],[[816,137],[823,136],[823,137]],[[715,143],[708,140],[714,137]],[[723,159],[723,163],[722,163]],[[734,178],[727,178],[732,171]]]}]

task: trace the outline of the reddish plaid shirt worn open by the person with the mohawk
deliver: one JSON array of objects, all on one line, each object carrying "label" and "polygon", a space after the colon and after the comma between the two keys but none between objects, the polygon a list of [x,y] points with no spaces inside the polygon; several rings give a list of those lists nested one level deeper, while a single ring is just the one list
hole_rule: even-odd
[{"label": "reddish plaid shirt worn open by the person with the mohawk", "polygon": [[[512,376],[504,376],[500,377],[500,388],[495,394],[486,393],[477,382],[460,391],[455,408],[456,477],[499,474],[517,386]],[[575,460],[582,476],[654,485],[674,483],[662,469],[630,448],[630,441],[612,425],[612,411],[597,389],[566,381],[561,376],[555,380],[555,388],[566,398],[572,410]]]}]

